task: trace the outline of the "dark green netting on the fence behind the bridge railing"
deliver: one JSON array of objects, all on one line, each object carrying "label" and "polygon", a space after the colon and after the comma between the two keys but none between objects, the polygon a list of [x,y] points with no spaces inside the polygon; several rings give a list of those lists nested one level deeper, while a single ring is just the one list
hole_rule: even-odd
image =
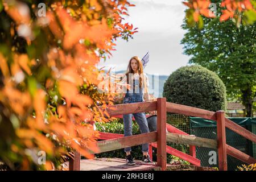
[{"label": "dark green netting on the fence behind the bridge railing", "polygon": [[[244,127],[245,129],[255,133],[256,131],[256,118],[229,118],[231,121],[237,123]],[[191,134],[196,135],[197,137],[209,138],[209,139],[217,139],[217,126],[216,121],[211,121],[208,119],[190,117],[190,128]],[[246,138],[234,133],[234,131],[226,128],[226,143],[230,146],[237,148],[238,150],[245,152],[250,156],[255,157],[255,143],[247,140]],[[212,164],[209,162],[210,151],[215,151],[217,154],[217,163]],[[205,148],[205,147],[196,147],[196,158],[201,160],[201,166],[208,167],[218,167],[218,151],[213,148]],[[228,155],[228,170],[236,170],[237,166],[241,166],[244,164],[240,160],[233,158]]]}]

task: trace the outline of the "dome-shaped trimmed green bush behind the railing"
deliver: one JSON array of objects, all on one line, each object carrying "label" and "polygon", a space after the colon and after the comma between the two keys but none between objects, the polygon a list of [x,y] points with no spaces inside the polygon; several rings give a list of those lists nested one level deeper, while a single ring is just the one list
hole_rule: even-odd
[{"label": "dome-shaped trimmed green bush behind the railing", "polygon": [[181,67],[164,83],[163,97],[200,109],[226,110],[226,88],[220,77],[200,65]]}]

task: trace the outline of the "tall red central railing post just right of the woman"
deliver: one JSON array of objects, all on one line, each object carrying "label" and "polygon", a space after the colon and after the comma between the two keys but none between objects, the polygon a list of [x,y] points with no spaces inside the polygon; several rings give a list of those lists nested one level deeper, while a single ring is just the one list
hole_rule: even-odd
[{"label": "tall red central railing post just right of the woman", "polygon": [[157,98],[157,165],[166,170],[166,98]]}]

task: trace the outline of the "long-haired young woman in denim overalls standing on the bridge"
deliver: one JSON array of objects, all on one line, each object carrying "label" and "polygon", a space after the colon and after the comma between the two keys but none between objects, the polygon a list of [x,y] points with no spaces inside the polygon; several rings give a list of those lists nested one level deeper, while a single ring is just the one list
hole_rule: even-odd
[{"label": "long-haired young woman in denim overalls standing on the bridge", "polygon": [[[141,59],[138,56],[131,57],[129,65],[127,67],[127,72],[122,78],[123,83],[130,85],[130,90],[126,90],[125,97],[123,98],[123,104],[134,103],[134,102],[144,102],[150,101],[150,96],[148,94],[148,78],[143,72],[143,65]],[[150,114],[155,114],[154,111]],[[134,116],[135,121],[139,125],[141,133],[149,133],[147,119],[145,113],[133,113],[123,115],[123,124],[125,129],[125,137],[132,135],[132,117]],[[131,156],[131,147],[125,148],[126,152],[126,163],[128,165],[134,165],[133,157]],[[148,143],[142,144],[143,159],[142,162],[150,163],[150,156],[148,155]]]}]

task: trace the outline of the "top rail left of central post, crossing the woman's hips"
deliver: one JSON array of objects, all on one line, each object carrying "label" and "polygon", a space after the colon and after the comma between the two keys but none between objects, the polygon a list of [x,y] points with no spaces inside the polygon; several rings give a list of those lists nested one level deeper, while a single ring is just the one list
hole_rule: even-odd
[{"label": "top rail left of central post, crossing the woman's hips", "polygon": [[110,116],[131,113],[143,113],[156,110],[156,101],[153,102],[136,102],[131,104],[110,105],[106,108]]}]

